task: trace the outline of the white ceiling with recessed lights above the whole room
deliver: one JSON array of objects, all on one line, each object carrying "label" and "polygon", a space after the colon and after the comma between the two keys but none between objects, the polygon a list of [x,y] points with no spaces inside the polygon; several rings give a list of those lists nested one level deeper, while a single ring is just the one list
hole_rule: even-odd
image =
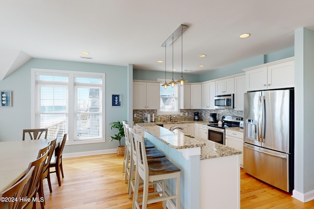
[{"label": "white ceiling with recessed lights above the whole room", "polygon": [[[189,26],[183,72],[202,74],[293,47],[294,30],[314,26],[313,6],[313,0],[1,0],[0,74],[32,57],[164,71],[157,63],[165,59],[161,44],[181,24]],[[251,36],[240,39],[242,33]],[[181,37],[173,48],[180,72]],[[172,45],[166,50],[171,72]]]}]

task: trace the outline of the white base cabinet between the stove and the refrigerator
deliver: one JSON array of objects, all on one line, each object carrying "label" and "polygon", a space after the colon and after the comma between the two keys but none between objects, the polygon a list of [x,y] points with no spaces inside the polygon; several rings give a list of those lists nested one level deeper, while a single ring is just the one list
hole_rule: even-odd
[{"label": "white base cabinet between the stove and the refrigerator", "polygon": [[243,132],[226,129],[226,146],[240,150],[240,166],[243,168]]}]

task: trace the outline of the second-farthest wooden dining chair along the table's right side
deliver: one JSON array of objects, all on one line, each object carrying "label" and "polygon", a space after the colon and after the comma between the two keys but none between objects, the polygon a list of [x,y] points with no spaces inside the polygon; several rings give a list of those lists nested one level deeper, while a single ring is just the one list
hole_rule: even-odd
[{"label": "second-farthest wooden dining chair along the table's right side", "polygon": [[45,208],[44,207],[44,205],[45,205],[45,196],[44,196],[43,181],[46,178],[48,180],[49,191],[50,191],[50,193],[52,193],[52,186],[51,186],[51,181],[50,181],[50,169],[49,169],[49,166],[50,166],[50,160],[51,160],[51,158],[52,158],[52,156],[54,154],[54,148],[55,148],[56,141],[57,141],[57,138],[55,138],[54,140],[52,140],[48,144],[48,147],[49,147],[48,156],[47,156],[47,159],[46,159],[45,164],[44,164],[41,180],[39,182],[38,196],[40,198],[43,198],[43,201],[40,202],[40,206],[41,206],[42,209]]}]

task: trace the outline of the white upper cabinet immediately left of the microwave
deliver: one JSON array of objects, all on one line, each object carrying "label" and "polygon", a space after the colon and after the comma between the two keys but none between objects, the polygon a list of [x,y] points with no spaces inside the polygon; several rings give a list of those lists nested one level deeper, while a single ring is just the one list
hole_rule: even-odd
[{"label": "white upper cabinet immediately left of the microwave", "polygon": [[215,109],[215,82],[202,84],[202,109]]}]

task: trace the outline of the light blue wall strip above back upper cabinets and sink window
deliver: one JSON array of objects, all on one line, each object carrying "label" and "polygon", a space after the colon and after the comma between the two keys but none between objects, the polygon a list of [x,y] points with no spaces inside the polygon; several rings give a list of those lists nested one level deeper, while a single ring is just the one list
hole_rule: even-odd
[{"label": "light blue wall strip above back upper cabinets and sink window", "polygon": [[[151,71],[151,70],[133,70],[133,79],[135,80],[157,80],[157,78],[165,78],[165,72],[163,71]],[[167,79],[172,79],[172,73],[168,72],[166,74]],[[181,73],[173,73],[173,78],[175,81],[181,78]],[[183,78],[188,80],[189,83],[199,82],[199,75],[184,74]]]}]

